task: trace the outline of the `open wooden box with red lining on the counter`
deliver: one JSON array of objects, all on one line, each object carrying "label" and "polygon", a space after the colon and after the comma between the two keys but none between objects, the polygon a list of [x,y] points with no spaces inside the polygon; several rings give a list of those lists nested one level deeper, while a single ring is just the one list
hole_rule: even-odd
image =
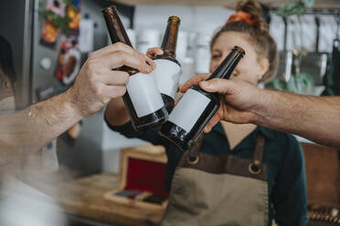
[{"label": "open wooden box with red lining on the counter", "polygon": [[169,192],[165,188],[167,157],[162,146],[138,146],[121,150],[119,186],[104,199],[134,208],[163,210]]}]

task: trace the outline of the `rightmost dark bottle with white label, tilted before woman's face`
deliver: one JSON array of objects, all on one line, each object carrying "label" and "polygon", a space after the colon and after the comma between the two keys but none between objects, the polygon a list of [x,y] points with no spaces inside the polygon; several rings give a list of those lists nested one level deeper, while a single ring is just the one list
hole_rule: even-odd
[{"label": "rightmost dark bottle with white label, tilted before woman's face", "polygon": [[[207,80],[228,79],[244,54],[242,48],[234,46]],[[217,112],[218,97],[218,93],[209,93],[199,86],[190,87],[162,125],[160,135],[172,141],[179,149],[190,149]]]}]

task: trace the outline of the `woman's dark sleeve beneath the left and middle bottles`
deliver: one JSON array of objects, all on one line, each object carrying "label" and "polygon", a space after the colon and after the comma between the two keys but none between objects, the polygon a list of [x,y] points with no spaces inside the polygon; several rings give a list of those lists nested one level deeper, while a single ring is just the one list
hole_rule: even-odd
[{"label": "woman's dark sleeve beneath the left and middle bottles", "polygon": [[145,141],[151,142],[154,145],[164,145],[164,139],[161,139],[161,137],[158,135],[159,127],[148,128],[143,131],[135,131],[131,121],[122,126],[112,126],[105,116],[104,120],[109,128],[111,128],[113,131],[119,132],[128,139],[143,139]]}]

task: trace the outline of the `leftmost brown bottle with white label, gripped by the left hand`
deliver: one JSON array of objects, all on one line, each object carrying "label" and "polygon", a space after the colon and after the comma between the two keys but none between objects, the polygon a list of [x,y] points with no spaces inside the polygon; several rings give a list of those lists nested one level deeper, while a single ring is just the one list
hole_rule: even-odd
[{"label": "leftmost brown bottle with white label, gripped by the left hand", "polygon": [[[116,7],[105,8],[102,11],[112,43],[122,42],[132,46],[126,34]],[[168,113],[165,109],[162,96],[158,90],[154,77],[151,74],[143,74],[131,67],[122,66],[119,70],[126,71],[130,75],[126,85],[126,92],[122,96],[125,108],[129,112],[136,131],[158,126],[165,122]]]}]

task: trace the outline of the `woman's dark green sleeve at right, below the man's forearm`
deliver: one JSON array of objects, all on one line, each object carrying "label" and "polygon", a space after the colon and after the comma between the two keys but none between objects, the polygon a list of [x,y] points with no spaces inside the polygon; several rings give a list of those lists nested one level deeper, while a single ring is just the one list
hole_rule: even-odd
[{"label": "woman's dark green sleeve at right, below the man's forearm", "polygon": [[273,190],[274,218],[279,225],[304,226],[308,216],[303,150],[291,135],[287,135],[285,144]]}]

